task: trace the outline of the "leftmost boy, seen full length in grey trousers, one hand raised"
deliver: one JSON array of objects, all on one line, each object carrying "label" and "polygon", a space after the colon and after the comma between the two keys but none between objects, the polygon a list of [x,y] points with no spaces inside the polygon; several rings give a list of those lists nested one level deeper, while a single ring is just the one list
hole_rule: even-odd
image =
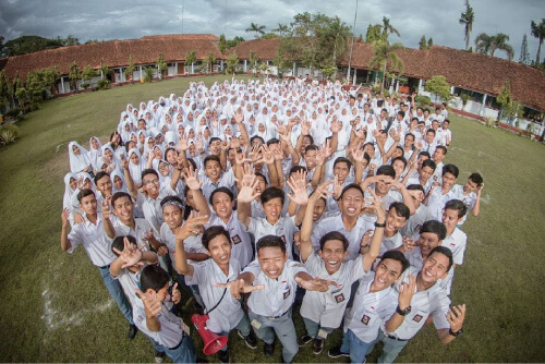
[{"label": "leftmost boy, seen full length in grey trousers, one hand raised", "polygon": [[72,253],[77,245],[83,244],[90,262],[98,267],[100,276],[105,282],[108,293],[116,301],[119,310],[129,321],[129,338],[134,339],[137,329],[132,318],[132,310],[123,290],[118,281],[110,275],[110,264],[116,259],[116,255],[110,250],[111,240],[106,236],[102,228],[102,219],[97,214],[97,199],[90,190],[82,190],[77,194],[80,208],[84,213],[84,221],[73,226],[70,234],[68,232],[70,210],[63,209],[61,247],[68,253]]}]

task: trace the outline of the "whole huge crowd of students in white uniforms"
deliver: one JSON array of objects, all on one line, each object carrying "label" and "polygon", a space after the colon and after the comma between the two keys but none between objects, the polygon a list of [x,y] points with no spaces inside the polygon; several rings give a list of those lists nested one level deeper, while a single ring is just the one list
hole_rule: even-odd
[{"label": "whole huge crowd of students in white uniforms", "polygon": [[[128,105],[104,145],[69,144],[61,247],[83,244],[130,324],[161,362],[196,353],[183,296],[217,335],[265,356],[392,363],[433,324],[462,332],[451,305],[479,173],[457,184],[448,113],[414,99],[304,80],[191,83],[183,96]],[[296,336],[293,315],[305,332]],[[218,352],[230,361],[227,345]],[[434,357],[429,357],[434,361]]]}]

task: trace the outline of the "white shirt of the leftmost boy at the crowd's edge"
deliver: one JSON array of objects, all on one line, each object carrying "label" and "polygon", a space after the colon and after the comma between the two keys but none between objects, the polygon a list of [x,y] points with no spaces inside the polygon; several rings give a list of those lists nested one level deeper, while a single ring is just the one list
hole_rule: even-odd
[{"label": "white shirt of the leftmost boy at the crowd's edge", "polygon": [[104,231],[102,218],[100,215],[97,216],[97,225],[93,225],[86,215],[83,215],[83,218],[85,221],[74,225],[68,235],[71,245],[68,252],[72,254],[77,245],[83,244],[94,265],[97,267],[109,265],[116,259],[116,255],[111,251],[112,240],[106,236]]}]

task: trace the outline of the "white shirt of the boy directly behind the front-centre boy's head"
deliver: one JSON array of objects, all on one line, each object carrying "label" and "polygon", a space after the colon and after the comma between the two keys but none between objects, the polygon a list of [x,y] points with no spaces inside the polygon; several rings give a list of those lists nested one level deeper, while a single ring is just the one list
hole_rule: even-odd
[{"label": "white shirt of the boy directly behind the front-centre boy's head", "polygon": [[295,227],[295,216],[287,216],[278,219],[277,223],[271,225],[267,218],[250,218],[250,223],[246,229],[247,232],[254,234],[255,243],[259,241],[261,238],[265,235],[277,235],[283,240],[286,243],[286,251],[288,252],[288,257],[293,258],[292,247],[293,247],[293,235],[299,231]]}]

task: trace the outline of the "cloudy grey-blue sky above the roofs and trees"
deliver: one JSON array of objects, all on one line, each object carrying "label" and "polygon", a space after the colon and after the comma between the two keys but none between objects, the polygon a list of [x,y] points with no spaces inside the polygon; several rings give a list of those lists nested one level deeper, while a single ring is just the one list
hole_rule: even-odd
[{"label": "cloudy grey-blue sky above the roofs and trees", "polygon": [[[505,33],[518,61],[526,34],[530,59],[535,60],[538,39],[531,36],[530,23],[545,17],[545,1],[470,0],[470,4],[475,13],[471,46],[480,33]],[[464,48],[464,26],[459,24],[464,9],[464,0],[0,0],[0,36],[8,41],[23,35],[56,38],[71,34],[85,43],[155,34],[226,33],[228,39],[253,39],[254,34],[245,32],[251,23],[265,25],[270,32],[278,23],[289,24],[295,14],[307,11],[337,15],[350,27],[356,13],[354,34],[363,36],[370,24],[382,24],[387,16],[401,35],[391,35],[390,41],[417,48],[425,35],[433,37],[435,45]],[[495,56],[506,57],[501,51]]]}]

